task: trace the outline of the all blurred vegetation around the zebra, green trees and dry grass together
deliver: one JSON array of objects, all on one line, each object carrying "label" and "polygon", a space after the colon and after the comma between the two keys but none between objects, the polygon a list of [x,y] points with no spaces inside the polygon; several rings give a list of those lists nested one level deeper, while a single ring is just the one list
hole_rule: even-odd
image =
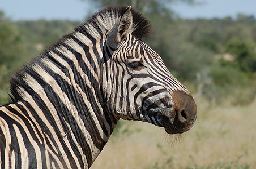
[{"label": "all blurred vegetation around the zebra, green trees and dry grass together", "polygon": [[[156,140],[159,138],[154,138],[159,130],[155,126],[120,121],[114,139],[110,139],[94,166],[254,168],[256,19],[242,14],[236,18],[180,19],[169,8],[174,1],[93,2],[98,8],[131,4],[151,21],[154,32],[143,40],[163,57],[174,77],[193,94],[198,105],[198,122],[180,144],[166,150]],[[182,2],[195,5],[191,0]],[[8,79],[17,68],[78,24],[63,20],[14,22],[0,12],[0,105],[8,103]],[[148,131],[150,127],[152,130]],[[117,157],[108,155],[110,149],[118,146],[120,152],[118,149],[114,152]],[[121,154],[131,160],[109,159]]]}]

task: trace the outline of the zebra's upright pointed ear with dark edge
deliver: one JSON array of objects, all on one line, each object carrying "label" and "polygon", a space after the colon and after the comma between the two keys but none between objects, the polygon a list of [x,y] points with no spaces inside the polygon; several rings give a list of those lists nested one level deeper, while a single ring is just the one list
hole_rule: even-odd
[{"label": "zebra's upright pointed ear with dark edge", "polygon": [[119,42],[127,37],[133,23],[133,14],[131,14],[131,6],[128,6],[123,12],[120,19],[117,20],[113,28],[110,30],[106,43],[109,47],[116,49]]}]

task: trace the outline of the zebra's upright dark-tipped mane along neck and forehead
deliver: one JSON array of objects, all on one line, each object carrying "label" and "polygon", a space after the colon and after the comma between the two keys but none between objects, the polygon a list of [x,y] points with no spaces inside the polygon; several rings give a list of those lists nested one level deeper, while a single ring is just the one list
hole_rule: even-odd
[{"label": "zebra's upright dark-tipped mane along neck and forehead", "polygon": [[[96,38],[102,37],[103,34],[113,28],[114,24],[116,24],[118,18],[122,16],[125,10],[125,6],[109,6],[103,8],[102,10],[93,14],[91,17],[88,17],[88,19],[82,25],[74,29],[74,32],[65,35],[54,45],[49,47],[37,57],[34,57],[31,61],[29,61],[29,63],[25,64],[10,80],[11,103],[22,100],[23,94],[19,92],[19,87],[25,87],[24,74],[27,72],[32,72],[33,66],[40,64],[42,59],[48,57],[47,55],[50,51],[54,51],[54,48],[58,48],[58,46],[63,45],[63,42],[65,42],[67,39],[72,39],[72,36],[75,33],[82,33],[92,42],[95,42]],[[131,12],[133,14],[133,26],[130,33],[137,38],[143,38],[150,35],[152,32],[150,22],[133,9],[131,9]]]}]

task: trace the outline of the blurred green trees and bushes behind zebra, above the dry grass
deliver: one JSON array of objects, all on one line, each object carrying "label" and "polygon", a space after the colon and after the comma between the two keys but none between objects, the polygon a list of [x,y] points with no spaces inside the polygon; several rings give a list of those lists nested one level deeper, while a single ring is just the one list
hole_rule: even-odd
[{"label": "blurred green trees and bushes behind zebra, above the dry grass", "polygon": [[[101,7],[112,1],[95,2]],[[253,16],[187,20],[169,10],[175,1],[151,0],[146,2],[147,6],[143,0],[117,2],[113,4],[134,5],[151,21],[153,34],[143,40],[195,97],[234,105],[249,104],[255,99],[256,19]],[[78,24],[61,20],[13,22],[0,13],[0,104],[7,103],[8,79],[16,68]]]}]

